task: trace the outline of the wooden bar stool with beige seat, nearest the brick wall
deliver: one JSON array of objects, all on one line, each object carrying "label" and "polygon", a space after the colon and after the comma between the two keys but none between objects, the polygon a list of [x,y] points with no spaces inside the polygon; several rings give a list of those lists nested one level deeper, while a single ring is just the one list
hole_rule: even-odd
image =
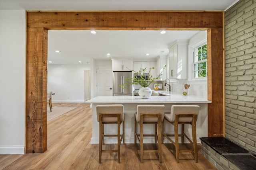
[{"label": "wooden bar stool with beige seat, nearest the brick wall", "polygon": [[[196,145],[196,120],[199,112],[199,106],[197,105],[173,105],[171,112],[164,115],[164,120],[174,125],[174,135],[166,134],[164,131],[164,121],[162,122],[162,142],[166,137],[175,146],[176,161],[179,163],[179,152],[192,152],[194,160],[197,163],[197,145]],[[178,124],[181,124],[181,134],[178,134]],[[184,133],[184,124],[190,124],[192,126],[192,140]],[[174,137],[175,142],[169,138]],[[179,137],[181,137],[181,143],[184,143],[184,137],[193,144],[193,149],[180,150],[179,149]]]}]

